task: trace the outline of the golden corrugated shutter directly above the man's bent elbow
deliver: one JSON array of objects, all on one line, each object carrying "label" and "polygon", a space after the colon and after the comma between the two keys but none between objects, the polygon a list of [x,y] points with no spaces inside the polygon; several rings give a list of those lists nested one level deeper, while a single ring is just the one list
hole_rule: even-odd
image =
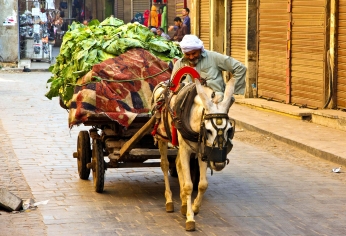
[{"label": "golden corrugated shutter directly above the man's bent elbow", "polygon": [[231,56],[245,64],[246,1],[232,0],[231,4]]}]

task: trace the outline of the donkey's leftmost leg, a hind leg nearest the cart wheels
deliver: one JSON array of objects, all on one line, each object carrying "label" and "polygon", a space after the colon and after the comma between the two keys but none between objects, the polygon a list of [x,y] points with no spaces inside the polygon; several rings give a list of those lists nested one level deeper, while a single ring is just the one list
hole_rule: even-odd
[{"label": "donkey's leftmost leg, a hind leg nearest the cart wheels", "polygon": [[159,150],[161,154],[161,170],[163,172],[163,176],[165,179],[165,198],[166,198],[166,212],[174,212],[174,205],[172,200],[172,192],[171,187],[169,185],[169,179],[168,179],[168,169],[169,169],[169,162],[167,158],[167,142],[158,141],[159,143]]}]

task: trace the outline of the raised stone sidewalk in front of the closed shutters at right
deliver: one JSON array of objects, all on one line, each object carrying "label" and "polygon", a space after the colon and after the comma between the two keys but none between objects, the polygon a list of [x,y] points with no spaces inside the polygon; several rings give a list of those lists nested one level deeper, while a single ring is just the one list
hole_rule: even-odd
[{"label": "raised stone sidewalk in front of the closed shutters at right", "polygon": [[[346,128],[345,112],[301,109],[264,99],[236,99],[229,115],[238,127],[261,132],[320,158],[346,165],[346,131],[331,128]],[[320,122],[322,117],[324,121]]]}]

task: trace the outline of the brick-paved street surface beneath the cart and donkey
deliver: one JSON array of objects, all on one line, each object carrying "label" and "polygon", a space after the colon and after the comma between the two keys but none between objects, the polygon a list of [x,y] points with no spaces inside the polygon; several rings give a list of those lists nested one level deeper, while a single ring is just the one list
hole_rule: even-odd
[{"label": "brick-paved street surface beneath the cart and donkey", "polygon": [[31,212],[2,211],[0,235],[345,235],[344,173],[247,131],[236,133],[229,166],[209,177],[197,232],[184,230],[175,178],[176,212],[165,212],[159,168],[110,169],[105,192],[95,193],[72,158],[84,127],[69,130],[66,111],[44,97],[49,76],[0,73],[0,184],[49,200]]}]

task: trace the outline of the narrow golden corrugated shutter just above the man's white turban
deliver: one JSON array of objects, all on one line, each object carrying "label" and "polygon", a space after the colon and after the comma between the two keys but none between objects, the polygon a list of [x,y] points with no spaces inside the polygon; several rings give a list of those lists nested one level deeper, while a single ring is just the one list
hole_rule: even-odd
[{"label": "narrow golden corrugated shutter just above the man's white turban", "polygon": [[210,1],[199,1],[199,38],[203,41],[204,48],[210,48]]}]

